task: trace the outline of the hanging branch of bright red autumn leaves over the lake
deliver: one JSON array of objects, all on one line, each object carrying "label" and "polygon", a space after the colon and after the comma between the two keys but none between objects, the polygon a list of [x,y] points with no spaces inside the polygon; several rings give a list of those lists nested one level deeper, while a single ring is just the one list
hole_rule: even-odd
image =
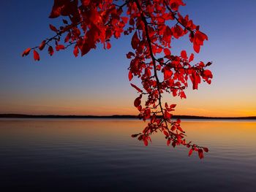
[{"label": "hanging branch of bright red autumn leaves over the lake", "polygon": [[[69,21],[62,20],[63,25],[59,28],[50,25],[56,35],[37,47],[26,49],[22,55],[29,55],[30,50],[34,50],[34,59],[39,61],[37,50],[43,50],[45,46],[53,55],[53,47],[59,51],[74,45],[75,57],[79,53],[83,56],[95,49],[98,43],[110,49],[111,37],[118,39],[121,34],[132,34],[133,52],[127,53],[127,58],[131,59],[129,80],[135,76],[141,80],[143,89],[131,84],[139,93],[134,105],[140,112],[139,117],[148,120],[142,133],[132,137],[138,137],[148,145],[151,134],[161,131],[167,145],[187,146],[189,155],[195,150],[203,158],[203,151],[208,152],[208,149],[186,142],[181,120],[171,120],[176,104],[162,104],[162,93],[186,99],[184,90],[188,87],[188,80],[191,80],[193,89],[197,89],[202,80],[210,84],[213,77],[206,69],[211,62],[200,61],[192,65],[193,53],[188,56],[185,50],[180,55],[170,52],[172,39],[188,35],[196,53],[208,40],[188,15],[181,15],[179,7],[184,5],[182,0],[54,0],[50,18],[64,16]],[[60,43],[62,36],[63,44]],[[54,46],[50,45],[52,42],[55,42]],[[146,101],[142,104],[143,96],[146,96]]]}]

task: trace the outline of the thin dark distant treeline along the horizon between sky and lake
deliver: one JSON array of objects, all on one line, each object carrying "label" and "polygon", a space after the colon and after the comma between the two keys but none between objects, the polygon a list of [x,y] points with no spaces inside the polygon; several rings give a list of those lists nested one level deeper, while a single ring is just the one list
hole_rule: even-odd
[{"label": "thin dark distant treeline along the horizon between sky and lake", "polygon": [[[109,116],[97,116],[97,115],[23,115],[23,114],[0,114],[0,118],[105,118],[105,119],[134,119],[138,118],[137,115],[109,115]],[[256,117],[230,117],[230,118],[219,118],[219,117],[203,117],[203,116],[192,116],[192,115],[173,115],[173,118],[180,119],[252,119],[256,120]]]}]

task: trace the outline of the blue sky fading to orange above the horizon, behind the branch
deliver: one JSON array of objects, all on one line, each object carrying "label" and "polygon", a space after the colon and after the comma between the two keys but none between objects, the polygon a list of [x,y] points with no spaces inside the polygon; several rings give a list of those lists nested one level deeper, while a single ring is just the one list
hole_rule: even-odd
[{"label": "blue sky fading to orange above the horizon, behind the branch", "polygon": [[[175,115],[212,117],[256,116],[256,1],[185,1],[181,7],[208,42],[195,55],[195,61],[212,61],[211,85],[187,89],[187,99],[165,95],[177,104]],[[131,37],[113,39],[110,50],[91,50],[75,58],[72,50],[50,57],[40,53],[34,61],[21,53],[52,37],[49,19],[53,1],[3,1],[0,7],[0,114],[34,115],[137,115],[133,106],[138,96],[129,85]],[[192,45],[187,37],[173,42],[173,53]],[[140,85],[138,80],[133,83]]]}]

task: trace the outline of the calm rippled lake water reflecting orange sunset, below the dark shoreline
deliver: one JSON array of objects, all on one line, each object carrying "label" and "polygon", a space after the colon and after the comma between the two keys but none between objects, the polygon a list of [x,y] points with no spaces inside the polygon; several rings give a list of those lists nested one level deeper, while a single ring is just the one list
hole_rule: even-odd
[{"label": "calm rippled lake water reflecting orange sunset, below the dark shoreline", "polygon": [[256,121],[183,121],[200,161],[138,120],[0,120],[0,191],[256,191]]}]

